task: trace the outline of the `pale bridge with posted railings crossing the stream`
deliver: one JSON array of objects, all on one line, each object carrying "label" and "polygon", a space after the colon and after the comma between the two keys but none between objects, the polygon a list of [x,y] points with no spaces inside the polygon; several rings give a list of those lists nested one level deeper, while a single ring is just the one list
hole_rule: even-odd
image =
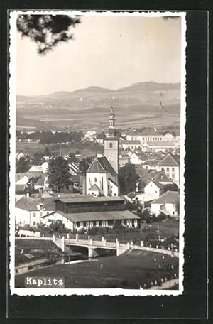
[{"label": "pale bridge with posted railings crossing the stream", "polygon": [[70,238],[56,238],[55,235],[53,235],[53,242],[62,249],[62,252],[67,251],[69,247],[75,246],[75,247],[86,247],[88,249],[88,257],[96,257],[97,252],[96,249],[111,249],[116,251],[116,255],[119,256],[120,254],[123,254],[126,251],[129,251],[131,249],[139,249],[147,252],[157,252],[161,254],[168,254],[173,257],[179,257],[179,252],[177,249],[173,249],[168,247],[168,249],[159,249],[158,247],[144,247],[143,241],[141,241],[141,245],[133,244],[133,241],[127,242],[126,244],[121,244],[118,239],[116,239],[116,242],[107,242],[104,237],[102,237],[102,240],[100,241],[94,241],[94,239],[90,238],[88,236],[88,239],[79,239],[78,234],[76,234],[75,239]]}]

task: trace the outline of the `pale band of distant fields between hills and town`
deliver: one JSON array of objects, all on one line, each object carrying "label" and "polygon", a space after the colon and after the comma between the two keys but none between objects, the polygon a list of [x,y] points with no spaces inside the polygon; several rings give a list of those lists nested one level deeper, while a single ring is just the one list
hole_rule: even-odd
[{"label": "pale band of distant fields between hills and town", "polygon": [[[36,109],[18,110],[16,125],[26,129],[50,130],[95,130],[102,131],[108,126],[108,107],[92,107],[87,109],[62,109],[63,112],[53,113],[36,111]],[[177,126],[180,124],[180,107],[178,104],[170,104],[161,108],[156,104],[141,104],[115,108],[116,127],[128,129],[129,127],[144,126]]]}]

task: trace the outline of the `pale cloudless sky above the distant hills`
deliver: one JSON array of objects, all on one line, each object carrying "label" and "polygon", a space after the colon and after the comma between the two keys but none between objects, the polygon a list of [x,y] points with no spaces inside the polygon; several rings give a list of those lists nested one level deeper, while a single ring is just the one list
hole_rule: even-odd
[{"label": "pale cloudless sky above the distant hills", "polygon": [[17,95],[180,82],[181,18],[80,16],[80,21],[73,41],[45,55],[17,32]]}]

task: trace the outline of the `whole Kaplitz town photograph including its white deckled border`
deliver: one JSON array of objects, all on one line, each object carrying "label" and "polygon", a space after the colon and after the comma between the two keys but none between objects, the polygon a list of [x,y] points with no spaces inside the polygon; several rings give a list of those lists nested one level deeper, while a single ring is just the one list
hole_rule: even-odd
[{"label": "whole Kaplitz town photograph including its white deckled border", "polygon": [[184,12],[11,11],[10,289],[184,292]]}]

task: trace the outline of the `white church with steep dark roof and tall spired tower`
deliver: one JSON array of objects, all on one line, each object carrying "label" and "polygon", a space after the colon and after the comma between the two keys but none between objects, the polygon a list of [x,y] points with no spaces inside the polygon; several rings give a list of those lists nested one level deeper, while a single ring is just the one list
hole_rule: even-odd
[{"label": "white church with steep dark roof and tall spired tower", "polygon": [[96,156],[86,174],[86,194],[119,195],[119,138],[115,135],[115,115],[109,114],[109,131],[104,139],[104,156]]}]

